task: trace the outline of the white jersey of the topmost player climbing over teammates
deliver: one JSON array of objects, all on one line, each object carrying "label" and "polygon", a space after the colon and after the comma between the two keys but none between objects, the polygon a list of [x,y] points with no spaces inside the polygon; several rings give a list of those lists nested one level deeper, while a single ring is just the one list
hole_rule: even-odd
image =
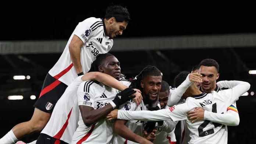
[{"label": "white jersey of the topmost player climbing over teammates", "polygon": [[49,71],[51,76],[67,85],[77,77],[68,48],[74,35],[77,35],[83,41],[81,47],[83,73],[89,71],[90,65],[96,59],[97,54],[107,53],[113,46],[113,39],[107,36],[103,19],[92,17],[79,22],[59,60]]}]

